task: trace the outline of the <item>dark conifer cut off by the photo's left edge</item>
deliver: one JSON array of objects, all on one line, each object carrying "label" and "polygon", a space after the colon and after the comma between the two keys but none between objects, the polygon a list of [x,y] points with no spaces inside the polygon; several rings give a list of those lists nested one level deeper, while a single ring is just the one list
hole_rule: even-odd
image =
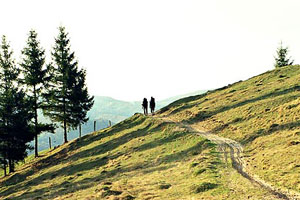
[{"label": "dark conifer cut off by the photo's left edge", "polygon": [[[0,155],[9,172],[15,163],[27,156],[27,144],[33,139],[30,121],[33,117],[30,101],[20,85],[20,70],[12,58],[13,52],[2,37],[0,48]],[[6,168],[6,167],[5,167]]]}]

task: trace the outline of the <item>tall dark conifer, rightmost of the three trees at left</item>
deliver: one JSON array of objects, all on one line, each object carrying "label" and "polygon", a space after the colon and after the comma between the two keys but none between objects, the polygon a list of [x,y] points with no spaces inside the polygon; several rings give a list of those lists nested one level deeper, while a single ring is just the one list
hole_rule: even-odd
[{"label": "tall dark conifer, rightmost of the three trees at left", "polygon": [[93,106],[94,97],[88,94],[85,84],[86,72],[78,69],[78,62],[74,52],[70,50],[70,39],[64,27],[59,27],[52,59],[52,78],[45,94],[49,106],[44,114],[62,125],[66,143],[67,132],[88,120],[87,112]]}]

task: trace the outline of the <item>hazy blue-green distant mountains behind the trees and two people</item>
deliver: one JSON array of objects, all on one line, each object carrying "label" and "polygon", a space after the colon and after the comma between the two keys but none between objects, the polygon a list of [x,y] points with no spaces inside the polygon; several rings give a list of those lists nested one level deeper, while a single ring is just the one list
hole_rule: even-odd
[{"label": "hazy blue-green distant mountains behind the trees and two people", "polygon": [[[206,90],[199,90],[196,92],[183,94],[174,96],[162,101],[156,102],[156,110],[167,106],[168,104],[187,97],[187,96],[193,96],[197,94],[202,94],[206,92]],[[82,136],[94,131],[94,121],[96,121],[96,129],[103,129],[109,126],[109,121],[111,121],[112,125],[116,124],[130,116],[132,116],[135,113],[141,113],[142,112],[142,105],[141,101],[122,101],[117,100],[111,97],[104,97],[104,96],[95,96],[95,103],[92,109],[88,112],[89,121],[82,125]],[[43,122],[50,122],[49,119],[45,118],[41,115],[39,117],[40,121]],[[78,130],[73,130],[68,133],[68,140],[75,139],[79,136]],[[39,136],[39,151],[42,151],[44,149],[49,148],[49,137],[52,141],[52,147],[57,146],[63,143],[63,129],[58,128],[55,132],[55,134],[52,133],[43,133]],[[31,145],[33,146],[33,142],[31,142]],[[30,154],[33,153],[30,152]]]}]

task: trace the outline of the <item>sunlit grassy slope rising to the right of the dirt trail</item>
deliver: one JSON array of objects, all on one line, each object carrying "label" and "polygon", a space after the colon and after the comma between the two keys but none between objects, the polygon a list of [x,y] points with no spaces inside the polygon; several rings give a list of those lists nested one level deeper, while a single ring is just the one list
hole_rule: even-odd
[{"label": "sunlit grassy slope rising to the right of the dirt trail", "polygon": [[251,171],[300,191],[300,66],[172,103],[161,115],[241,142]]}]

